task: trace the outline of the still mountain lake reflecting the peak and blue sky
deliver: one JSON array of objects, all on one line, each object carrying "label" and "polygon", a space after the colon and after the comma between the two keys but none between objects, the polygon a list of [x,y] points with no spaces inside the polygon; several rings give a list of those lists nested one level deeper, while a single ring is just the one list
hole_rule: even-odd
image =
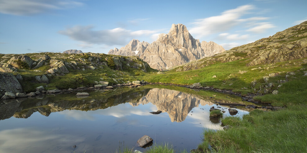
[{"label": "still mountain lake reflecting the peak and blue sky", "polygon": [[[75,91],[0,102],[0,153],[111,153],[119,147],[145,151],[136,144],[143,135],[189,151],[201,142],[204,129],[221,129],[209,119],[216,102],[246,104],[240,97],[212,91],[168,88],[121,87],[83,91],[88,97],[76,97]],[[227,106],[219,107],[230,116]],[[243,108],[235,116],[248,113]],[[157,110],[162,113],[149,113]]]}]

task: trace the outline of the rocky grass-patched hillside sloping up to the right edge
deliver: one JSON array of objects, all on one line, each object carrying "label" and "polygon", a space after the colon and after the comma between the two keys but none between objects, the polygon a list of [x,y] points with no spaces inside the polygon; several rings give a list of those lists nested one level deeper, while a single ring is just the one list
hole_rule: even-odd
[{"label": "rocky grass-patched hillside sloping up to the right edge", "polygon": [[277,32],[268,38],[234,47],[212,57],[192,61],[173,67],[176,71],[194,70],[208,66],[215,61],[232,62],[247,59],[247,66],[272,64],[307,57],[307,21]]}]

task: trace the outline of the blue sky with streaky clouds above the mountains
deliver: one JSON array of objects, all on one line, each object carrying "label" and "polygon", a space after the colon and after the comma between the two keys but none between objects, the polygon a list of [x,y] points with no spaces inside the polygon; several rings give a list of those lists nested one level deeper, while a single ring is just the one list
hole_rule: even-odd
[{"label": "blue sky with streaky clouds above the mountains", "polygon": [[0,0],[0,53],[108,53],[172,24],[226,50],[307,20],[306,0]]}]

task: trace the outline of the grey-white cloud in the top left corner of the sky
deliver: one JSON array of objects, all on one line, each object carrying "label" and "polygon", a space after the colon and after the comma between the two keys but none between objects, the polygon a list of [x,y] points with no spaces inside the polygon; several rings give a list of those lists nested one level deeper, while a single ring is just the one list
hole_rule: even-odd
[{"label": "grey-white cloud in the top left corner of the sky", "polygon": [[49,10],[67,9],[82,6],[73,0],[0,0],[0,13],[11,15],[33,15]]}]

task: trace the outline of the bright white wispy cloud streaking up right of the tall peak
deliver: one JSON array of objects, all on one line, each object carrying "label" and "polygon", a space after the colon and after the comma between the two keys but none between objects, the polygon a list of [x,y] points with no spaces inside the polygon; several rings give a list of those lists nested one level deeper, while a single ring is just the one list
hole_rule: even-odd
[{"label": "bright white wispy cloud streaking up right of the tall peak", "polygon": [[[268,17],[249,17],[243,18],[244,15],[251,14],[256,7],[254,5],[243,5],[238,6],[235,9],[226,10],[221,13],[221,15],[211,16],[204,19],[198,19],[196,22],[192,23],[192,28],[189,32],[197,37],[207,36],[214,33],[221,33],[231,30],[236,26],[242,24],[256,24],[261,20],[268,20]],[[273,28],[274,25],[271,23],[261,24],[257,23],[256,27],[250,28],[250,32],[262,32],[265,29]],[[231,35],[229,37],[236,37],[236,39],[243,39],[246,36],[239,38],[236,35]]]}]

